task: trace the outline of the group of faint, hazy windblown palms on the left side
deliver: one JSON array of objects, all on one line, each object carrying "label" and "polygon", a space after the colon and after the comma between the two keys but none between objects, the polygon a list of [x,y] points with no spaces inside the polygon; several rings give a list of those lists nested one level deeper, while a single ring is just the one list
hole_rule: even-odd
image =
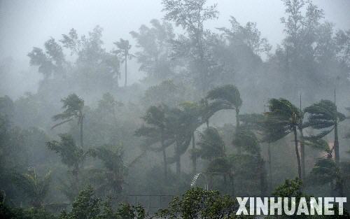
[{"label": "group of faint, hazy windblown palms on the left side", "polygon": [[[110,94],[104,94],[109,104],[119,104]],[[104,145],[97,148],[85,148],[83,144],[83,120],[84,100],[76,94],[69,94],[62,99],[62,108],[64,111],[52,117],[53,120],[60,120],[52,127],[55,128],[66,122],[76,120],[80,127],[80,146],[76,144],[71,134],[59,134],[59,141],[48,141],[46,145],[50,150],[55,151],[61,157],[62,163],[69,169],[72,178],[68,183],[62,182],[62,192],[70,200],[73,200],[78,191],[83,188],[84,182],[81,181],[82,174],[88,171],[92,181],[97,182],[97,191],[107,195],[116,195],[123,190],[125,175],[125,165],[123,164],[123,149],[121,146]],[[114,111],[113,111],[113,115]],[[86,157],[98,158],[104,169],[84,169],[83,163]]]}]

